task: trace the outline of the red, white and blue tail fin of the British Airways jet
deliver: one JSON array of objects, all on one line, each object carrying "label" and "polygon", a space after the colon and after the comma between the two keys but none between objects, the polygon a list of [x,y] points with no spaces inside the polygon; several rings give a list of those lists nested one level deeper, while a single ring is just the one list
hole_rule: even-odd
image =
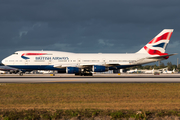
[{"label": "red, white and blue tail fin of the British Airways jet", "polygon": [[146,53],[158,56],[168,55],[165,53],[165,50],[171,38],[172,32],[173,29],[164,29],[137,53]]}]

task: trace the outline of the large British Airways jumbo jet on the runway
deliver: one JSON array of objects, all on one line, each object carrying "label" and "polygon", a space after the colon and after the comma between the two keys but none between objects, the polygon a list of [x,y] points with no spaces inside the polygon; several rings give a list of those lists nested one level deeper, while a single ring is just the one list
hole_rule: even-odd
[{"label": "large British Airways jumbo jet on the runway", "polygon": [[173,29],[164,29],[142,49],[129,54],[85,54],[58,51],[17,51],[2,60],[4,65],[25,70],[57,70],[59,73],[92,75],[168,59],[165,53]]}]

